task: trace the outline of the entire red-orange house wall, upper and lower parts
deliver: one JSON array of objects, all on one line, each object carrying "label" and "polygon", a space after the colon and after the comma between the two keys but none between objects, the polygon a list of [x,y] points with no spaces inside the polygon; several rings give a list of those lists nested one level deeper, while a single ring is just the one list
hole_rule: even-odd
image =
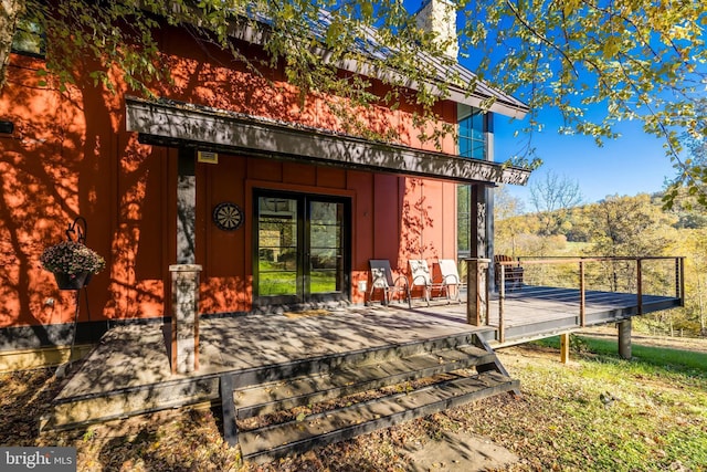
[{"label": "entire red-orange house wall, upper and lower parts", "polygon": [[[282,71],[264,71],[265,77],[257,77],[228,69],[224,64],[232,62],[219,51],[207,53],[189,35],[162,31],[173,84],[156,85],[159,96],[342,130],[325,104],[335,98],[310,94],[302,103]],[[257,53],[254,46],[245,50]],[[41,61],[12,55],[8,85],[0,94],[0,119],[15,126],[12,135],[0,135],[0,328],[73,321],[73,292],[57,291],[39,256],[46,245],[64,239],[77,216],[88,222],[87,244],[107,261],[107,269],[87,289],[89,303],[82,306],[80,321],[169,314],[165,302],[168,268],[176,262],[177,149],[141,145],[125,130],[124,98],[129,91],[119,80],[117,90],[107,92],[77,71],[77,85],[59,92],[40,83],[35,72],[41,66]],[[373,87],[382,91],[380,84]],[[404,105],[352,113],[380,129],[393,126],[400,144],[434,149],[433,143],[416,138],[413,111]],[[455,120],[453,103],[441,103],[437,113],[449,123]],[[445,138],[442,148],[453,153],[453,139]],[[367,279],[369,259],[389,259],[405,272],[410,258],[456,255],[452,182],[221,154],[215,165],[197,165],[201,313],[251,310],[254,188],[351,198],[355,303],[363,301],[357,282]],[[211,222],[211,209],[224,200],[245,211],[244,227],[234,232],[220,231]]]}]

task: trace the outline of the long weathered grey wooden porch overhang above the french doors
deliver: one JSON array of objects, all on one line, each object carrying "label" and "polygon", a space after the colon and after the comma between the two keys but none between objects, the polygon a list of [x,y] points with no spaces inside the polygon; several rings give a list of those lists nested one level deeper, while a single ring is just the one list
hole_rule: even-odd
[{"label": "long weathered grey wooden porch overhang above the french doors", "polygon": [[145,144],[296,160],[467,183],[526,185],[530,171],[172,101],[126,98]]}]

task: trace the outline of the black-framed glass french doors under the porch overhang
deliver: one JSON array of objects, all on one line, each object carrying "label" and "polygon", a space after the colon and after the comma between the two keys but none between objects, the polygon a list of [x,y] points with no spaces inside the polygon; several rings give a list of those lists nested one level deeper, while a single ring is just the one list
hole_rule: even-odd
[{"label": "black-framed glass french doors under the porch overhang", "polygon": [[350,199],[257,191],[257,305],[348,300]]}]

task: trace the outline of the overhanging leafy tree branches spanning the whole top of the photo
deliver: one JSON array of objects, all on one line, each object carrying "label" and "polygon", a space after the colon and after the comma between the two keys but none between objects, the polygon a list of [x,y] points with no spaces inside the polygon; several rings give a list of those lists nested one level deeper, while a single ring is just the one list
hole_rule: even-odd
[{"label": "overhanging leafy tree branches spanning the whole top of the photo", "polygon": [[[703,182],[704,161],[685,158],[684,139],[704,139],[707,116],[704,98],[704,28],[707,3],[701,1],[587,2],[471,2],[453,0],[461,24],[462,55],[473,62],[479,77],[525,99],[530,108],[528,130],[541,130],[538,114],[557,108],[563,117],[563,134],[584,134],[603,139],[616,136],[620,120],[643,123],[646,133],[661,136],[678,169],[667,201],[687,185],[697,201],[707,200]],[[262,65],[283,67],[287,78],[302,91],[344,96],[355,105],[405,103],[420,105],[420,136],[439,145],[443,126],[425,133],[437,119],[434,104],[449,96],[450,84],[472,93],[477,81],[462,81],[447,73],[440,81],[420,54],[442,65],[454,60],[442,53],[446,44],[416,27],[403,2],[371,0],[12,0],[0,18],[0,63],[4,64],[17,15],[24,11],[44,27],[51,39],[48,71],[59,88],[86,77],[107,90],[116,86],[116,72],[133,92],[150,95],[149,86],[168,82],[169,71],[160,60],[159,30],[163,23],[188,31],[194,41],[218,44],[252,72]],[[320,9],[330,11],[321,22]],[[318,25],[313,32],[313,25]],[[365,54],[359,48],[377,28],[382,54]],[[265,38],[268,56],[249,60],[233,40],[245,29]],[[340,74],[337,64],[356,61],[384,74],[389,90],[374,93],[371,83],[357,74]],[[80,65],[81,69],[76,70]],[[392,72],[394,71],[394,73]],[[1,71],[4,76],[4,70]],[[414,94],[408,85],[416,84]],[[327,101],[347,130],[369,138],[393,139],[393,129],[371,129],[350,113],[350,107]],[[489,106],[488,102],[485,106]],[[601,118],[591,120],[592,111]],[[528,135],[530,136],[530,135]],[[689,147],[689,143],[687,143]],[[537,164],[530,139],[513,162]]]}]

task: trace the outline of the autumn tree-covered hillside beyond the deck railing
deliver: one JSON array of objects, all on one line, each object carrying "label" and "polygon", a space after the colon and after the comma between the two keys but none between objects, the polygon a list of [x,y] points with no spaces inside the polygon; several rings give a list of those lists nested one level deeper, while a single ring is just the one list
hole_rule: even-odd
[{"label": "autumn tree-covered hillside beyond the deck railing", "polygon": [[684,256],[685,307],[642,316],[636,326],[653,334],[707,336],[707,217],[694,197],[678,195],[669,210],[662,193],[569,206],[578,201],[569,198],[579,195],[576,186],[561,180],[561,186],[546,186],[549,176],[531,188],[528,213],[521,213],[524,202],[497,190],[495,252],[514,258]]}]

